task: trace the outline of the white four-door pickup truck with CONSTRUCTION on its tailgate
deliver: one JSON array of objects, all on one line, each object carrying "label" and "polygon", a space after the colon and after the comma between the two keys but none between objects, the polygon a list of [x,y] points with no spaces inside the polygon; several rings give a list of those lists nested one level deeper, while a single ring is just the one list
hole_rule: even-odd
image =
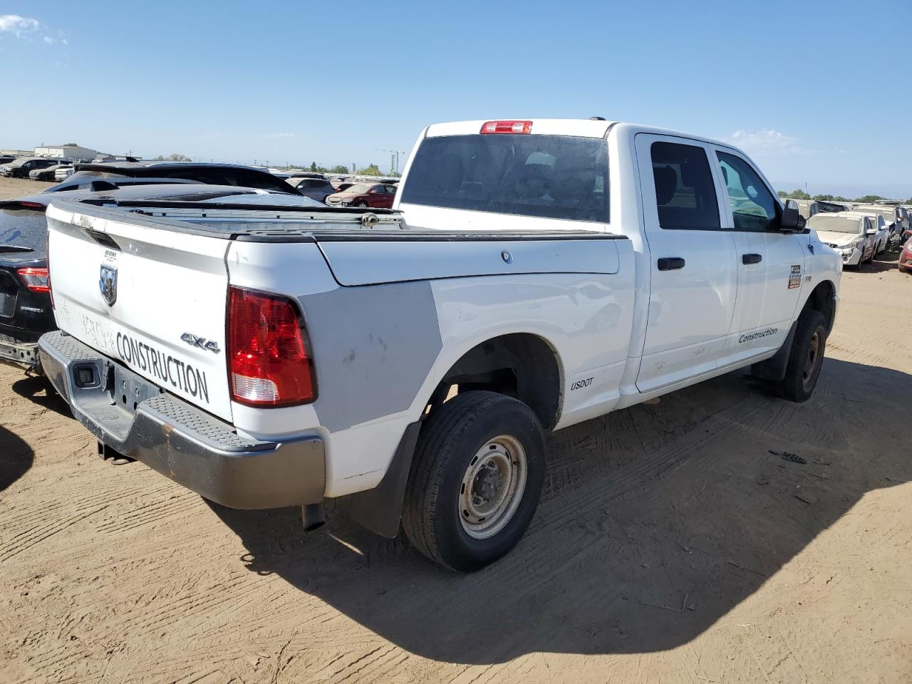
[{"label": "white four-door pickup truck with CONSTRUCTION on its tailgate", "polygon": [[522,537],[544,430],[748,366],[808,399],[842,270],[740,150],[602,119],[430,126],[392,211],[47,219],[41,361],[103,453],[458,571]]}]

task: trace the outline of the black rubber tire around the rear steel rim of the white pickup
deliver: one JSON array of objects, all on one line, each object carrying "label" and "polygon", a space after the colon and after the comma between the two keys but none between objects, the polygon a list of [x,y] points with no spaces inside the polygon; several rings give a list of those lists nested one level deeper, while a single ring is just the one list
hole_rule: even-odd
[{"label": "black rubber tire around the rear steel rim of the white pickup", "polygon": [[[461,520],[467,516],[460,510],[463,479],[482,448],[504,435],[517,440],[525,452],[525,484],[513,497],[518,503],[503,527],[487,538],[476,538]],[[510,459],[514,466],[520,461],[513,455]],[[507,554],[525,534],[542,482],[544,433],[533,410],[503,394],[465,392],[436,409],[421,427],[402,526],[411,544],[438,565],[463,573],[480,570]]]}]

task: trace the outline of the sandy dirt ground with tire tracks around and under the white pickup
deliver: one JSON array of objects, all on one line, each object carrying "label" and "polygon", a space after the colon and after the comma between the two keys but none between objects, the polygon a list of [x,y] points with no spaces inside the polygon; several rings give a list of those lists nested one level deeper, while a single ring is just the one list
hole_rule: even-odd
[{"label": "sandy dirt ground with tire tracks around and under the white pickup", "polygon": [[112,467],[0,367],[0,681],[912,681],[912,276],[842,296],[812,400],[734,374],[555,433],[468,576]]}]

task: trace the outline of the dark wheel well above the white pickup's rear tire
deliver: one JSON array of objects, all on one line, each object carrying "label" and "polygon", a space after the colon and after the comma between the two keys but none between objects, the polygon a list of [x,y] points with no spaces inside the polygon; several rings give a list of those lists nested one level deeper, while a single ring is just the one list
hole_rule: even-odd
[{"label": "dark wheel well above the white pickup's rear tire", "polygon": [[545,429],[557,424],[560,368],[554,349],[536,335],[503,335],[472,347],[440,379],[428,409],[446,401],[454,386],[459,392],[487,389],[506,394],[528,404]]}]

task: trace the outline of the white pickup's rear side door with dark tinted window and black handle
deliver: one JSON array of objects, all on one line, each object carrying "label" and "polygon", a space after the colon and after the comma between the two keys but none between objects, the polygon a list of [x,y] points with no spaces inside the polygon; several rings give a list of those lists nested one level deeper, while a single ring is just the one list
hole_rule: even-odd
[{"label": "white pickup's rear side door with dark tinted window and black handle", "polygon": [[707,146],[640,133],[636,149],[652,270],[637,388],[648,392],[716,368],[737,271]]}]

